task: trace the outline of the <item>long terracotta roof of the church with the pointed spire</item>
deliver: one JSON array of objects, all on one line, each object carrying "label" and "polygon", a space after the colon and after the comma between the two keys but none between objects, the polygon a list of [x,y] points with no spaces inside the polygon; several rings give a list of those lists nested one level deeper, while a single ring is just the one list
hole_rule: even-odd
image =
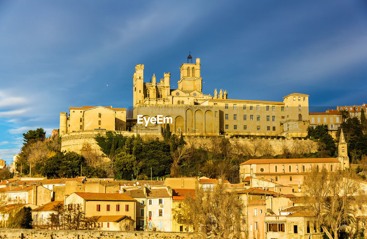
[{"label": "long terracotta roof of the church with the pointed spire", "polygon": [[333,163],[337,158],[280,158],[280,159],[249,159],[240,165],[269,164],[269,163]]}]

